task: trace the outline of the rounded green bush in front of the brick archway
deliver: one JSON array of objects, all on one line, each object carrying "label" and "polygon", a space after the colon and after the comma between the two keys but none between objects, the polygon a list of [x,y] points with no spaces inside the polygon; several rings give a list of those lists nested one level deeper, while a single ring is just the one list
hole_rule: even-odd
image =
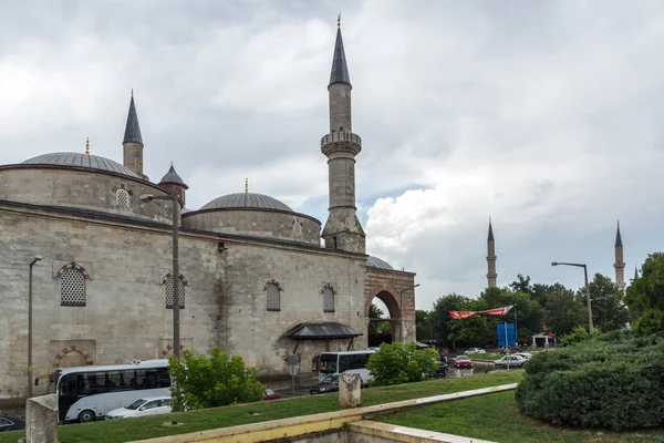
[{"label": "rounded green bush in front of the brick archway", "polygon": [[383,343],[366,363],[373,385],[390,385],[423,381],[438,369],[432,349],[417,350],[414,342]]}]

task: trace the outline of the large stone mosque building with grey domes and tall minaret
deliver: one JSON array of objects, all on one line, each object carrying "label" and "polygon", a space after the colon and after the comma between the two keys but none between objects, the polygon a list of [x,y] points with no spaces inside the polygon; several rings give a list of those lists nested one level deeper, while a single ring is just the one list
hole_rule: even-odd
[{"label": "large stone mosque building with grey domes and tall minaret", "polygon": [[[0,399],[25,394],[30,320],[32,379],[59,367],[168,357],[174,285],[180,349],[219,347],[263,378],[288,374],[290,354],[308,372],[322,351],[366,348],[376,297],[391,319],[403,319],[393,322],[394,337],[403,328],[404,341],[415,339],[415,274],[367,256],[355,214],[362,141],[352,127],[341,29],[333,54],[330,131],[320,142],[330,184],[324,226],[247,188],[187,208],[188,186],[173,166],[157,183],[143,173],[151,147],[133,96],[122,164],[86,148],[0,166]],[[170,193],[175,216],[170,199],[139,198]]]}]

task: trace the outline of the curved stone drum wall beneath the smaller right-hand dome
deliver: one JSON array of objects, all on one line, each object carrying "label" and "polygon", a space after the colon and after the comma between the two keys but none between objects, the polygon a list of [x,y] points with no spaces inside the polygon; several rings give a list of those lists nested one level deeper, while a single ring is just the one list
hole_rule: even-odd
[{"label": "curved stone drum wall beneath the smaller right-hand dome", "polygon": [[[297,224],[300,224],[300,228]],[[277,210],[214,209],[183,215],[183,226],[234,235],[279,238],[320,246],[321,224],[315,218]]]}]

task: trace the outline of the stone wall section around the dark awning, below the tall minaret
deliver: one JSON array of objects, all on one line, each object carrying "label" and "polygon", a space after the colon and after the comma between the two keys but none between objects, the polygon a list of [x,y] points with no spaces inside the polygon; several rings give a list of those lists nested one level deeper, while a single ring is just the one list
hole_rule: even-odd
[{"label": "stone wall section around the dark awning, below the tall minaret", "polygon": [[[228,298],[225,306],[226,348],[245,356],[261,375],[287,374],[284,357],[297,342],[283,333],[303,321],[339,321],[364,336],[352,349],[366,348],[363,290],[366,258],[356,255],[303,251],[283,247],[230,245],[227,254]],[[267,310],[266,284],[281,287],[281,310]],[[322,290],[334,289],[334,312],[323,312]],[[350,339],[302,341],[301,370],[310,370],[313,356],[328,350],[346,350]]]}]

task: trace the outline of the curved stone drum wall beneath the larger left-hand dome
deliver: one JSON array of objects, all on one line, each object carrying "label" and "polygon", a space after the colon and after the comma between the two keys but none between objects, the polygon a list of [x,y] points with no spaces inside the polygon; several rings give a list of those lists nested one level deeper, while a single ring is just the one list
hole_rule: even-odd
[{"label": "curved stone drum wall beneath the larger left-hand dome", "polygon": [[[116,192],[129,194],[129,207],[116,206]],[[166,195],[156,185],[126,175],[56,167],[0,169],[0,199],[92,209],[102,213],[172,224],[170,200],[143,203],[142,194]]]}]

